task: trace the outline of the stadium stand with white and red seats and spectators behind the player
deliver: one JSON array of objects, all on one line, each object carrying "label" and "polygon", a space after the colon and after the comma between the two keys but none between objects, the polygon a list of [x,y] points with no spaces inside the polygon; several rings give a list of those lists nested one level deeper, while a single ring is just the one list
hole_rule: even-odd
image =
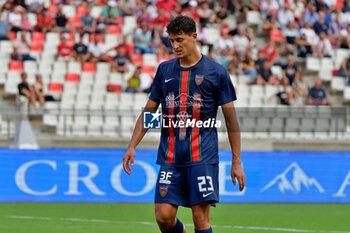
[{"label": "stadium stand with white and red seats and spectators behind the player", "polygon": [[[164,2],[168,1],[176,7],[163,14],[164,10],[161,8]],[[165,25],[169,19],[180,13],[176,9],[180,9],[182,14],[191,16],[197,21],[200,29],[198,44],[200,51],[228,69],[237,91],[236,106],[277,109],[271,110],[272,113],[271,111],[263,113],[264,110],[261,110],[260,115],[250,118],[245,118],[244,110],[241,110],[240,121],[242,128],[246,131],[243,133],[244,137],[285,136],[295,139],[303,135],[305,138],[312,138],[316,135],[313,129],[324,125],[329,126],[324,129],[325,131],[330,129],[332,123],[325,122],[331,122],[331,117],[302,119],[306,116],[306,109],[309,109],[306,106],[308,88],[313,86],[315,80],[322,81],[333,106],[349,106],[350,75],[337,76],[337,71],[341,68],[344,59],[349,57],[349,1],[327,1],[322,7],[313,1],[254,1],[255,3],[248,7],[250,10],[245,11],[243,9],[248,8],[241,6],[241,1],[229,0],[227,2],[235,2],[235,8],[226,13],[221,9],[227,7],[226,1],[223,5],[210,0],[168,1],[143,0],[137,3],[132,1],[136,6],[132,13],[125,11],[121,3],[114,0],[108,2],[45,0],[34,11],[25,4],[19,6],[16,5],[19,3],[11,2],[10,8],[2,8],[0,12],[2,22],[0,29],[6,32],[3,33],[0,30],[2,64],[0,85],[4,87],[4,96],[18,95],[17,85],[20,82],[21,72],[28,74],[30,84],[34,83],[35,74],[40,73],[43,76],[46,91],[59,99],[59,102],[47,102],[45,111],[41,112],[43,125],[54,127],[57,135],[130,136],[135,117],[147,100],[147,93],[126,93],[128,80],[139,66],[141,67],[140,77],[143,77],[140,78],[140,85],[146,85],[144,83],[147,83],[147,78],[144,77],[147,75],[153,77],[158,64],[173,57]],[[212,12],[209,18],[203,18],[203,14],[198,13],[206,3],[209,4]],[[339,5],[342,6],[341,9]],[[260,8],[257,9],[257,6]],[[111,11],[113,14],[110,13]],[[18,12],[20,12],[20,20],[13,22],[13,17],[10,15]],[[283,12],[287,12],[286,15],[291,14],[291,19]],[[23,18],[26,13],[29,25]],[[324,23],[320,25],[322,20],[320,22],[315,20],[312,18],[313,15],[315,17],[317,15],[317,19],[323,17]],[[291,29],[287,32],[287,25],[291,21],[294,23],[297,37],[290,34]],[[266,27],[267,24],[268,27]],[[305,24],[310,24],[311,27],[304,27]],[[148,31],[144,34],[141,33],[142,25],[148,27]],[[20,33],[23,31],[26,32],[26,40],[30,45],[30,56],[33,58],[31,61],[16,56],[13,46],[16,38],[20,38]],[[235,37],[239,31],[244,31],[243,36]],[[319,39],[321,31],[327,34],[326,39],[332,46],[332,52],[326,57],[318,53],[323,41]],[[302,34],[306,36],[304,42],[300,42]],[[80,35],[83,36],[83,44],[86,47],[86,51],[83,46],[80,47],[83,54],[81,60],[73,55],[73,51],[77,52],[73,46],[79,42]],[[222,35],[225,35],[224,39]],[[140,36],[151,38],[147,49],[137,49],[139,45],[137,38]],[[95,37],[98,43],[93,46]],[[313,40],[310,39],[311,37]],[[269,43],[270,40],[274,42]],[[67,41],[67,44],[63,43],[63,47],[62,41]],[[237,47],[241,43],[248,44],[242,49]],[[270,44],[271,47],[268,46]],[[124,73],[113,72],[114,57],[118,55],[117,48],[121,45],[125,47],[125,52],[131,59],[127,72]],[[227,49],[227,46],[230,49]],[[287,51],[286,48],[290,47],[293,49]],[[260,57],[258,52],[262,49],[264,52]],[[144,53],[138,53],[139,51]],[[300,53],[300,51],[308,51],[308,53]],[[287,52],[292,52],[296,58],[296,66],[303,79],[294,80],[285,87],[282,78]],[[66,53],[64,60],[60,59],[61,53]],[[247,64],[245,59],[248,53],[254,60],[253,63],[249,63],[250,68],[255,70],[249,75],[243,69]],[[89,54],[92,55],[89,56]],[[278,60],[276,61],[275,58]],[[272,61],[268,64],[271,70],[270,76],[275,78],[279,85],[256,84],[255,75],[265,60]],[[145,75],[142,76],[142,74]],[[282,114],[280,119],[273,119],[278,111],[283,113],[285,108],[295,107],[305,108],[302,111],[303,114],[293,119],[288,119],[288,114],[284,117]],[[317,112],[319,108],[314,106],[313,111]],[[290,114],[292,113],[294,111],[290,111]],[[261,114],[271,116],[262,118]],[[6,135],[7,126],[3,124],[3,120],[0,122],[2,122],[0,132]],[[288,131],[292,132],[287,135]],[[308,131],[311,134],[305,134],[302,131]],[[330,135],[331,131],[328,130],[327,133]],[[153,136],[156,138],[157,134]]]}]

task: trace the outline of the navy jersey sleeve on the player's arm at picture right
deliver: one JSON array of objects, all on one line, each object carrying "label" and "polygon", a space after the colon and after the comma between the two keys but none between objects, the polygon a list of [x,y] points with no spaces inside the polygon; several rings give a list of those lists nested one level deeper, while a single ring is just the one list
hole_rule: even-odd
[{"label": "navy jersey sleeve on the player's arm at picture right", "polygon": [[233,87],[230,75],[226,70],[222,70],[220,73],[220,87],[219,87],[219,100],[218,105],[224,105],[231,101],[235,101],[236,91]]}]

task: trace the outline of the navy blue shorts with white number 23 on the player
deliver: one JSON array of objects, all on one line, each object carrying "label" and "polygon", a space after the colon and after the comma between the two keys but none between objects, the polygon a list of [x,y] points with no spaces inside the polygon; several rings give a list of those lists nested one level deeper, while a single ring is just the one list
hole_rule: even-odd
[{"label": "navy blue shorts with white number 23 on the player", "polygon": [[154,202],[178,206],[219,201],[218,164],[204,164],[190,167],[161,165]]}]

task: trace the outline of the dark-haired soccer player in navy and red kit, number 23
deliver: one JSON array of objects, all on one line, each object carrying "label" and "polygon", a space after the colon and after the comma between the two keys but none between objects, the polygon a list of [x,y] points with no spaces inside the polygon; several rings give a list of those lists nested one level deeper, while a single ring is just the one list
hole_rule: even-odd
[{"label": "dark-haired soccer player in navy and red kit, number 23", "polygon": [[[189,118],[206,121],[216,117],[221,106],[232,149],[231,177],[242,191],[245,174],[240,158],[240,133],[234,110],[235,90],[226,69],[198,52],[196,25],[178,16],[167,26],[176,58],[159,65],[144,111],[162,113],[168,122]],[[124,170],[131,174],[135,148],[146,133],[143,114],[138,118],[123,158]],[[166,116],[166,117],[165,117]],[[178,122],[179,122],[178,121]],[[176,218],[178,206],[192,209],[195,233],[213,232],[210,206],[219,201],[218,137],[215,127],[162,127],[157,164],[160,171],[155,192],[155,215],[163,233],[186,232]]]}]

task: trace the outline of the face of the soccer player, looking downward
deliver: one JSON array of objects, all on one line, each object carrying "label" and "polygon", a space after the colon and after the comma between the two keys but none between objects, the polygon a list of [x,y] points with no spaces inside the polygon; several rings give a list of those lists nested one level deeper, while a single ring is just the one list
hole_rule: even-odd
[{"label": "face of the soccer player, looking downward", "polygon": [[174,53],[177,58],[185,58],[193,53],[196,49],[196,38],[197,33],[188,35],[185,33],[181,34],[169,34],[169,41],[173,47]]}]

